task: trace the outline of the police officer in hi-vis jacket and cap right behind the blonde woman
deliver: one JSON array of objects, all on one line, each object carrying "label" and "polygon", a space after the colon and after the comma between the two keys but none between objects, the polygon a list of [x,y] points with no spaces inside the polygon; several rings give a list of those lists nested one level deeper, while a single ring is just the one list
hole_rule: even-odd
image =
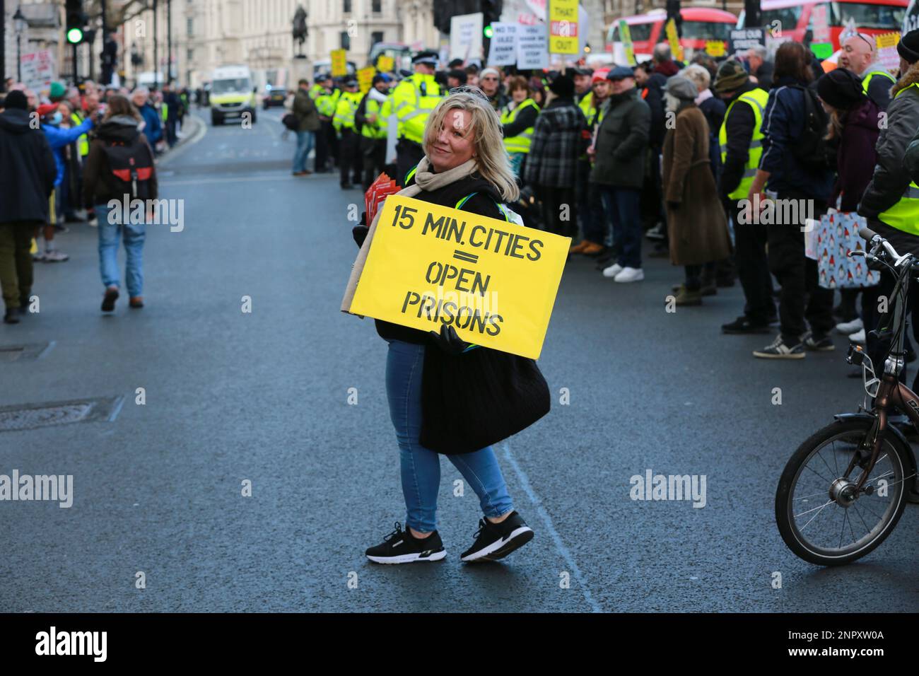
[{"label": "police officer in hi-vis jacket and cap right behind the blonde woman", "polygon": [[399,143],[396,144],[396,180],[404,185],[405,176],[425,156],[421,143],[425,122],[444,96],[434,79],[437,52],[418,52],[414,74],[406,77],[392,92],[392,112],[399,120]]}]

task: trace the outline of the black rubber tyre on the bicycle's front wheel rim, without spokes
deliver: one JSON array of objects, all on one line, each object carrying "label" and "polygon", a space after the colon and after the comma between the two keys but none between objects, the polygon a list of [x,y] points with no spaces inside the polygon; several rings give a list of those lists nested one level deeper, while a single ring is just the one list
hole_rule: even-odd
[{"label": "black rubber tyre on the bicycle's front wheel rim, without spokes", "polygon": [[[897,521],[900,521],[903,509],[906,506],[906,495],[908,493],[906,486],[901,487],[899,502],[890,512],[890,515],[888,516],[885,514],[886,522],[883,524],[883,527],[880,528],[879,533],[866,544],[859,547],[855,552],[846,554],[845,556],[827,556],[821,554],[819,551],[815,551],[815,548],[809,547],[808,544],[802,543],[801,538],[796,534],[792,516],[792,502],[794,487],[797,484],[797,478],[803,465],[811,457],[811,454],[824,446],[827,441],[841,435],[864,435],[868,432],[871,423],[872,420],[870,419],[858,419],[836,421],[827,425],[822,430],[817,430],[811,434],[806,441],[801,443],[798,450],[792,454],[789,458],[789,462],[785,465],[785,469],[782,472],[776,489],[776,524],[778,526],[778,532],[782,536],[782,540],[785,541],[789,549],[796,556],[799,556],[809,563],[818,566],[844,566],[845,564],[852,563],[874,551],[884,542],[887,536],[891,534],[894,527],[897,525]],[[906,462],[907,459],[903,456],[904,450],[901,443],[896,438],[896,435],[891,432],[891,430],[885,430],[882,443],[881,452],[888,451],[891,453],[891,457],[896,458],[897,462],[900,464],[901,477],[904,476],[910,464]],[[829,487],[827,487],[827,489],[829,489]]]}]

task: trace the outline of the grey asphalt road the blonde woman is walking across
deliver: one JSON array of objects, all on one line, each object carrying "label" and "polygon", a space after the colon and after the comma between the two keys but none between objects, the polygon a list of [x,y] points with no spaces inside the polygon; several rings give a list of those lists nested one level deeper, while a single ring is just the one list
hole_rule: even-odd
[{"label": "grey asphalt road the blonde woman is walking across", "polygon": [[[0,611],[915,609],[914,506],[843,568],[800,561],[777,533],[789,455],[862,399],[845,338],[803,361],[754,360],[769,337],[719,331],[739,287],[667,313],[681,272],[658,259],[631,285],[581,258],[565,270],[539,360],[552,410],[496,449],[533,542],[501,564],[460,564],[478,501],[468,487],[454,497],[445,461],[448,558],[370,564],[364,549],[404,505],[386,344],[338,310],[361,196],[337,176],[292,178],[279,117],[209,127],[160,166],[184,228],[148,230],[147,307],[122,299],[101,315],[96,231],[77,225],[58,239],[70,261],[38,264],[40,314],[0,327],[0,346],[54,341],[38,361],[0,363],[0,406],[125,397],[111,422],[0,432],[0,473],[74,475],[70,509],[0,502]],[[630,477],[649,469],[706,475],[705,507],[630,499]]]}]

